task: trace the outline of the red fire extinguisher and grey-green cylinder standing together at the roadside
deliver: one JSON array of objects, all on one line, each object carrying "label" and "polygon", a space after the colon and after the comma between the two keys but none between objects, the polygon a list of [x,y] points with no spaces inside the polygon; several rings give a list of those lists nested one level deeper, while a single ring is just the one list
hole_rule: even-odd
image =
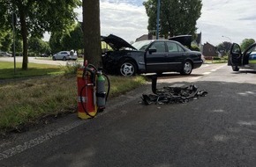
[{"label": "red fire extinguisher and grey-green cylinder standing together at the roadside", "polygon": [[80,119],[94,118],[97,112],[105,109],[105,102],[109,96],[104,91],[105,76],[109,85],[109,77],[102,73],[102,69],[97,70],[94,65],[87,64],[78,69],[78,116]]}]

